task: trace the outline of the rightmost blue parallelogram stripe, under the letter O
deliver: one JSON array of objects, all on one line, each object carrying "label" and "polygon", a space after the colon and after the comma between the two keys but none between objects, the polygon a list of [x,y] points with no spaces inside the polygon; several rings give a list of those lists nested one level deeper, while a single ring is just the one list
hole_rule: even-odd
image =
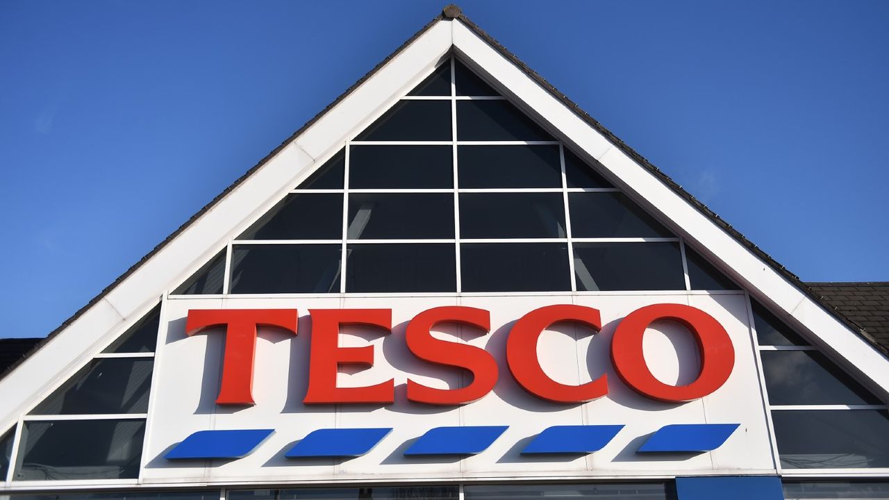
[{"label": "rightmost blue parallelogram stripe, under the letter O", "polygon": [[652,434],[638,453],[702,453],[722,446],[740,423],[677,423]]}]

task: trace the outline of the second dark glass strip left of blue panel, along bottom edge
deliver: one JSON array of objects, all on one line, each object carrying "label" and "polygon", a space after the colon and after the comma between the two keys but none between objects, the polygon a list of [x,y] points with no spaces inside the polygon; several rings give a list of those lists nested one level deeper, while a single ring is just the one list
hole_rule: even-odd
[{"label": "second dark glass strip left of blue panel, along bottom edge", "polygon": [[456,486],[408,486],[403,488],[300,488],[229,491],[228,500],[456,500]]}]

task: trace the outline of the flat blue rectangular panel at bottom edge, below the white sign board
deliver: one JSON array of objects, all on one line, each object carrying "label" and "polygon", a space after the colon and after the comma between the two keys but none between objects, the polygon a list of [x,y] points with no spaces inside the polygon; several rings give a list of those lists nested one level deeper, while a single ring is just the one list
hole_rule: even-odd
[{"label": "flat blue rectangular panel at bottom edge, below the white sign board", "polygon": [[678,500],[784,500],[777,476],[677,478]]}]

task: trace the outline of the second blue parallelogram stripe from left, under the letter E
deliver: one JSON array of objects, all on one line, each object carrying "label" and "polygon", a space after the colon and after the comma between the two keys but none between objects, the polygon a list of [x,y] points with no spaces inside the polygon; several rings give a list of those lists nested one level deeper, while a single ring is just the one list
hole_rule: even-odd
[{"label": "second blue parallelogram stripe from left, under the letter E", "polygon": [[296,443],[284,455],[287,458],[310,456],[362,456],[392,431],[391,427],[375,429],[318,429]]}]

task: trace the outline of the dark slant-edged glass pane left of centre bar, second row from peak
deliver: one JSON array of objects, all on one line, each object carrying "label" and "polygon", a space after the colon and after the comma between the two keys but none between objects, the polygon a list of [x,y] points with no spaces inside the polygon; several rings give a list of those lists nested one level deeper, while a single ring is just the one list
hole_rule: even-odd
[{"label": "dark slant-edged glass pane left of centre bar, second row from peak", "polygon": [[451,101],[398,101],[356,141],[452,141]]}]

